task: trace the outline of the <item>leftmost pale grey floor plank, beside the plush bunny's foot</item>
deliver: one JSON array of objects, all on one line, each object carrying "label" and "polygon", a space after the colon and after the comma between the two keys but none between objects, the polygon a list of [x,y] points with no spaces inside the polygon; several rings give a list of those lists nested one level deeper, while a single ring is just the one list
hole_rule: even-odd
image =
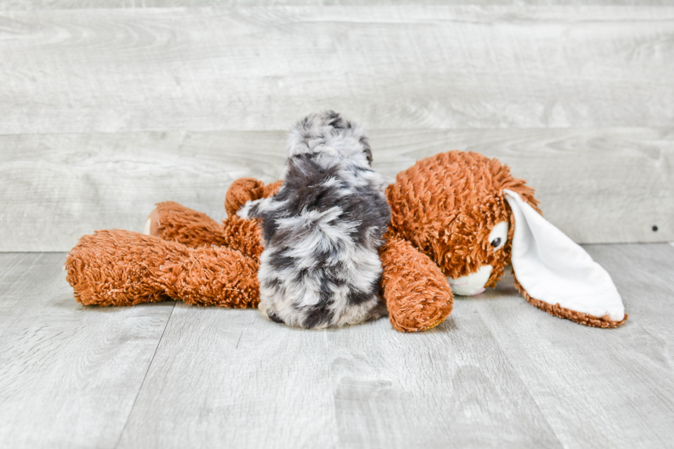
[{"label": "leftmost pale grey floor plank, beside the plush bunny's foot", "polygon": [[113,448],[172,303],[75,302],[64,254],[0,254],[0,446]]}]

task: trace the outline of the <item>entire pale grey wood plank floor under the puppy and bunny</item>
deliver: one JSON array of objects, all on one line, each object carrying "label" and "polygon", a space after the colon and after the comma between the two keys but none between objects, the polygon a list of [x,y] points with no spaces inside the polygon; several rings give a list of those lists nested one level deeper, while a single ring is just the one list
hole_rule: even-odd
[{"label": "entire pale grey wood plank floor under the puppy and bunny", "polygon": [[674,248],[586,248],[623,295],[623,327],[548,316],[509,276],[418,334],[83,307],[63,253],[0,254],[0,447],[666,447]]}]

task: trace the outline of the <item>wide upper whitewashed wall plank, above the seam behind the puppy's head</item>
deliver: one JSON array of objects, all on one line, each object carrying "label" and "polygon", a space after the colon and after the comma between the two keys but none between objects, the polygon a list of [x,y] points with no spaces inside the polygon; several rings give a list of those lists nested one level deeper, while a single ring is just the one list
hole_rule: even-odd
[{"label": "wide upper whitewashed wall plank, above the seam behind the puppy's head", "polygon": [[674,8],[241,6],[8,11],[2,134],[670,127]]}]

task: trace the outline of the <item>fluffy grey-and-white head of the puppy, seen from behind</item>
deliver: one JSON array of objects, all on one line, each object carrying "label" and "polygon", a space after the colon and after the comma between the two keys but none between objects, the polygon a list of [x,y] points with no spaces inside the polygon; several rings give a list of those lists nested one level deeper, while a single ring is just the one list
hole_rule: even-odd
[{"label": "fluffy grey-and-white head of the puppy, seen from behind", "polygon": [[287,158],[309,157],[324,168],[337,163],[360,167],[372,164],[367,137],[356,124],[334,111],[311,114],[290,132]]}]

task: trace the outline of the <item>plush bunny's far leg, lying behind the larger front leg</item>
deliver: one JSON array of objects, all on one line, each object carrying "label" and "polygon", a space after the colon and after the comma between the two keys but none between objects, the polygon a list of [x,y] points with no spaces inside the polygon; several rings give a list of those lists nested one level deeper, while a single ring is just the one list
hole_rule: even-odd
[{"label": "plush bunny's far leg, lying behind the larger front leg", "polygon": [[175,241],[191,248],[227,246],[259,260],[262,239],[257,220],[246,220],[232,215],[222,224],[173,201],[157,204],[150,213],[145,234]]}]

